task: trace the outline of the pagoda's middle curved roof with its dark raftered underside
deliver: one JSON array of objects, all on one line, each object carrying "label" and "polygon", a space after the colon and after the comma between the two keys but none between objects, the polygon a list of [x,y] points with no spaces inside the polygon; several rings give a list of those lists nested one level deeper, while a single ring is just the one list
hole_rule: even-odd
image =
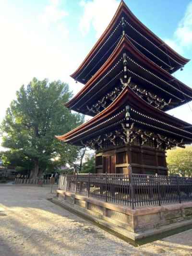
[{"label": "pagoda's middle curved roof with its dark raftered underside", "polygon": [[108,60],[65,106],[86,114],[87,110],[82,106],[101,98],[108,87],[117,85],[117,80],[122,77],[123,53],[127,53],[128,76],[132,77],[132,81],[138,85],[144,85],[158,96],[160,94],[162,98],[173,98],[178,101],[176,105],[170,106],[167,110],[192,100],[192,88],[184,85],[155,62],[149,60],[124,35]]}]

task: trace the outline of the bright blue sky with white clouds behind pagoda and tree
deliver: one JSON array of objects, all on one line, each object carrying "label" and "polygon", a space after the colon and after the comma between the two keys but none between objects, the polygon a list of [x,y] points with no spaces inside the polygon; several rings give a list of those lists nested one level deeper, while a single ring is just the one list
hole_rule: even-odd
[{"label": "bright blue sky with white clouds behind pagoda and tree", "polygon": [[[192,0],[125,0],[158,37],[192,59]],[[0,0],[0,122],[15,92],[33,77],[61,80],[76,94],[70,74],[84,60],[120,0]],[[175,76],[192,87],[192,61]],[[192,123],[192,104],[168,111]],[[1,148],[0,148],[1,149]]]}]

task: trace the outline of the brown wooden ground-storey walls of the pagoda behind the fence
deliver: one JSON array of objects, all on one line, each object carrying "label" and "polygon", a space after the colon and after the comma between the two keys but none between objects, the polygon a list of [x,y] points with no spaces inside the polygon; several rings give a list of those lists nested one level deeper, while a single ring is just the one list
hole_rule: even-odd
[{"label": "brown wooden ground-storey walls of the pagoda behind the fence", "polygon": [[[103,159],[103,162],[102,162]],[[97,164],[103,164],[103,171],[108,173],[128,173],[128,164],[133,173],[167,175],[165,151],[149,146],[122,146],[99,151]],[[102,165],[97,166],[97,170]],[[98,171],[97,171],[98,172]]]}]

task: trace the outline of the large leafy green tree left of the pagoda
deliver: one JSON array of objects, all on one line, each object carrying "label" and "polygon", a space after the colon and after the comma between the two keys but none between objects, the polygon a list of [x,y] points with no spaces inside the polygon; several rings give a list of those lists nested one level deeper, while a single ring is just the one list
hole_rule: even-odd
[{"label": "large leafy green tree left of the pagoda", "polygon": [[51,166],[51,159],[58,158],[58,164],[75,160],[77,148],[55,138],[84,121],[84,116],[64,106],[71,96],[69,86],[60,81],[34,78],[21,86],[1,125],[2,146],[10,149],[4,154],[7,163],[23,167],[30,163],[30,177],[36,178]]}]

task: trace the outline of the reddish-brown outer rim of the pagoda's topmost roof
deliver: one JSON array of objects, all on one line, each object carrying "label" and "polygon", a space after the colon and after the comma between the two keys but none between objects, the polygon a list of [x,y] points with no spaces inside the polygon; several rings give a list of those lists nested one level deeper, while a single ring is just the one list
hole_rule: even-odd
[{"label": "reddish-brown outer rim of the pagoda's topmost roof", "polygon": [[163,40],[161,40],[159,37],[157,37],[150,29],[148,29],[142,22],[140,22],[138,20],[138,18],[131,12],[131,10],[128,8],[128,6],[125,4],[125,2],[123,0],[121,0],[118,9],[115,12],[115,15],[113,16],[111,22],[108,24],[108,27],[106,28],[106,30],[103,32],[101,37],[97,40],[96,44],[93,46],[93,48],[87,54],[84,61],[80,64],[80,66],[77,68],[77,70],[70,75],[73,79],[75,79],[76,75],[82,70],[82,68],[86,65],[86,63],[91,58],[91,56],[94,55],[94,52],[99,48],[99,46],[106,39],[113,24],[120,17],[121,12],[123,12],[123,11],[126,12],[129,15],[130,19],[132,19],[132,21],[134,23],[136,23],[142,30],[144,30],[145,33],[147,33],[149,37],[153,38],[158,45],[161,45],[163,48],[166,47],[166,51],[168,51],[169,54],[171,54],[176,59],[178,59],[181,62],[181,64],[185,65],[187,62],[190,61],[190,59],[186,59],[186,58],[182,57],[174,49],[171,49]]}]

